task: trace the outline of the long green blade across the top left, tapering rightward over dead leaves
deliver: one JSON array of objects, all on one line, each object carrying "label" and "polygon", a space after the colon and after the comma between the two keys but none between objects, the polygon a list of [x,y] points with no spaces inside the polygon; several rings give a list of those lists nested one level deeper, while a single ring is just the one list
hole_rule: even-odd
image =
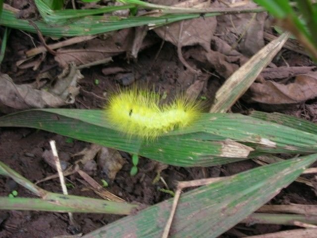
[{"label": "long green blade across the top left, tapering rightward over dead leaves", "polygon": [[[207,13],[205,17],[216,16],[220,13]],[[86,16],[73,20],[65,26],[54,26],[38,20],[34,23],[38,26],[41,33],[45,36],[64,37],[64,36],[87,36],[96,35],[109,31],[120,30],[136,26],[157,26],[172,23],[180,20],[199,18],[200,14],[170,14],[163,16],[131,16],[127,18],[105,17],[105,16]],[[17,19],[15,14],[7,9],[3,9],[0,25],[14,29],[36,33],[36,30],[27,20]]]}]

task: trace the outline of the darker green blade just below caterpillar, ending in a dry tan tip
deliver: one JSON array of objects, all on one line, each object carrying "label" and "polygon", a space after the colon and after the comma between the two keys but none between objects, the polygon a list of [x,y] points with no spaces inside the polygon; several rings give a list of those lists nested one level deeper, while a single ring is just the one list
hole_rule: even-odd
[{"label": "darker green blade just below caterpillar, ending in a dry tan tip", "polygon": [[[54,109],[51,112],[50,110],[32,110],[8,115],[0,119],[0,126],[43,129],[183,167],[211,166],[243,160],[243,158],[220,156],[227,147],[219,141],[204,141],[199,137],[193,139],[193,137],[175,135],[147,143],[124,136],[122,132],[114,130],[107,124],[103,118],[104,112],[101,110],[61,110],[59,114],[57,112],[58,110]],[[100,125],[76,119],[74,116],[95,122],[99,120]],[[179,149],[175,150],[175,148]],[[239,153],[243,151],[246,149],[241,148]]]}]

